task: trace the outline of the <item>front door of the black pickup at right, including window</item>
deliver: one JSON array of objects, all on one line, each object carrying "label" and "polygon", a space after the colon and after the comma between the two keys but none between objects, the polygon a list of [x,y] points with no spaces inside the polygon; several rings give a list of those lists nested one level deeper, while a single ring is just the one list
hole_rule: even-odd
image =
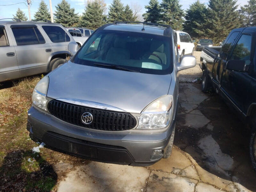
[{"label": "front door of the black pickup at right, including window", "polygon": [[[228,60],[243,60],[249,68],[252,65],[252,34],[244,30],[234,44]],[[247,92],[252,80],[248,72],[237,72],[226,69],[226,78],[228,80],[228,89],[226,93],[229,99],[244,113],[244,101],[247,100]]]}]

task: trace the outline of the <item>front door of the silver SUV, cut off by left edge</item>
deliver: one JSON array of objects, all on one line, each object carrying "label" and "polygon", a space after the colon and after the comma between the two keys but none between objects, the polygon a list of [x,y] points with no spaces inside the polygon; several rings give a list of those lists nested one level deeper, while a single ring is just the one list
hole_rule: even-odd
[{"label": "front door of the silver SUV, cut off by left edge", "polygon": [[20,77],[17,56],[6,25],[0,25],[0,82]]}]

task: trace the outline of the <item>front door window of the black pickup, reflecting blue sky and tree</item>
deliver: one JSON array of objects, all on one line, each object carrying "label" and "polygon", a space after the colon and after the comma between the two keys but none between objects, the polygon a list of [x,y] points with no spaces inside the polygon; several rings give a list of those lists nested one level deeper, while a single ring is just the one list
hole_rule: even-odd
[{"label": "front door window of the black pickup, reflecting blue sky and tree", "polygon": [[243,60],[246,65],[250,65],[251,45],[252,36],[243,34],[237,42],[230,60]]}]

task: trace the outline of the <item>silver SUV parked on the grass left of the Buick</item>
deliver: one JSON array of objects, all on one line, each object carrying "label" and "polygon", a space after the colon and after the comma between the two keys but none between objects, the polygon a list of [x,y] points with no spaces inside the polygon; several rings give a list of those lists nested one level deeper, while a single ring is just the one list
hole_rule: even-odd
[{"label": "silver SUV parked on the grass left of the Buick", "polygon": [[77,50],[76,42],[60,24],[1,20],[0,82],[48,73]]}]

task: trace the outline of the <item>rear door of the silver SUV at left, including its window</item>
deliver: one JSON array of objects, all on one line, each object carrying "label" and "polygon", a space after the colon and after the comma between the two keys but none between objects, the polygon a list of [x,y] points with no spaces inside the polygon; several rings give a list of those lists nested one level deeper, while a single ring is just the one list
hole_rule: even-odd
[{"label": "rear door of the silver SUV at left, including its window", "polygon": [[52,46],[36,24],[10,24],[20,77],[45,73]]}]

